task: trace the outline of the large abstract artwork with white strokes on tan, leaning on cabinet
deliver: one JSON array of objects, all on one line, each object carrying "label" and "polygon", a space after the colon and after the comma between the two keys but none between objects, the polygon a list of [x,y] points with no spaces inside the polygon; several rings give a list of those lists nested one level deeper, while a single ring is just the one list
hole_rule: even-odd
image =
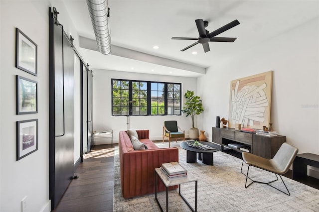
[{"label": "large abstract artwork with white strokes on tan, leaning on cabinet", "polygon": [[270,119],[272,71],[233,80],[230,83],[228,127],[263,129]]}]

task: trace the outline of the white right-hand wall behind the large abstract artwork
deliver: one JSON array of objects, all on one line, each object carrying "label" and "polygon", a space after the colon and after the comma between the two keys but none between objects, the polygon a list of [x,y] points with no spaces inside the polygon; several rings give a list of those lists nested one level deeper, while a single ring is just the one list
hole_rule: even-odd
[{"label": "white right-hand wall behind the large abstract artwork", "polygon": [[[318,6],[318,2],[314,2]],[[319,154],[319,19],[227,58],[198,79],[205,111],[200,122],[211,140],[216,116],[228,119],[230,81],[273,70],[271,117],[299,153]],[[207,135],[206,135],[207,136]]]}]

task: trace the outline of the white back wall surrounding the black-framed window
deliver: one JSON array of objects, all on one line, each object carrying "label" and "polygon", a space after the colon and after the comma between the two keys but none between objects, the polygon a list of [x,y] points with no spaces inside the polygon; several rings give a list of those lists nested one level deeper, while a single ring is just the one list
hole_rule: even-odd
[{"label": "white back wall surrounding the black-framed window", "polygon": [[[93,131],[113,129],[114,143],[118,143],[119,131],[127,129],[127,117],[112,116],[112,78],[182,83],[182,95],[187,90],[194,91],[195,94],[197,92],[196,78],[93,70]],[[150,129],[150,138],[152,140],[161,140],[164,120],[177,120],[178,125],[185,130],[186,136],[188,135],[188,129],[191,128],[191,118],[186,118],[185,115],[130,116],[130,128]],[[97,145],[104,143],[111,143],[111,139],[96,139]]]}]

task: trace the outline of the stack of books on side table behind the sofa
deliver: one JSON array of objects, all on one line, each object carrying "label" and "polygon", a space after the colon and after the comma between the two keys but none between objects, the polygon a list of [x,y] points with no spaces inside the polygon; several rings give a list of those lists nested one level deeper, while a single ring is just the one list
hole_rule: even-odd
[{"label": "stack of books on side table behind the sofa", "polygon": [[160,170],[167,180],[177,180],[187,177],[187,170],[178,162],[162,163]]}]

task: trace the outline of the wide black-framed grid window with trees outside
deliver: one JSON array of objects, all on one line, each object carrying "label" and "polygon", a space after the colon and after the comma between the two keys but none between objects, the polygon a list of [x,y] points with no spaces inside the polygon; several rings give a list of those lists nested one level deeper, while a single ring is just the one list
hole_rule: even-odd
[{"label": "wide black-framed grid window with trees outside", "polygon": [[180,90],[180,83],[112,79],[112,115],[181,115]]}]

